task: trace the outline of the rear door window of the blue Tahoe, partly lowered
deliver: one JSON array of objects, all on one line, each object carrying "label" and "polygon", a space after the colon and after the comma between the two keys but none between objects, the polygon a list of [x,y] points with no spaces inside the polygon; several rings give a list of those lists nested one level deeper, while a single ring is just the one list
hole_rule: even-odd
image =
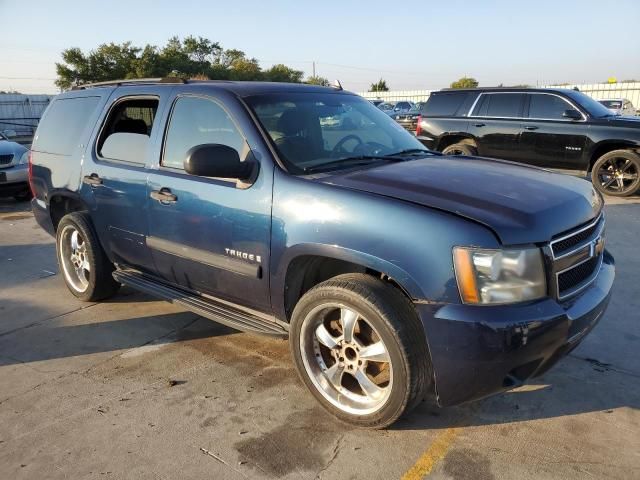
[{"label": "rear door window of the blue Tahoe, partly lowered", "polygon": [[[109,160],[144,164],[146,159],[143,146],[148,143],[151,135],[158,103],[157,98],[132,97],[118,101],[109,111],[100,133],[98,155]],[[139,147],[135,149],[136,154],[121,154],[130,149],[130,145]],[[114,156],[114,152],[118,152],[117,155]]]}]

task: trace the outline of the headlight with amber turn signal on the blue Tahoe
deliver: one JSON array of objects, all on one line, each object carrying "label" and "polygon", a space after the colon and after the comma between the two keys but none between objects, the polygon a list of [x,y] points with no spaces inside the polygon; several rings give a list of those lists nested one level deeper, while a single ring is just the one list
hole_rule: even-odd
[{"label": "headlight with amber turn signal on the blue Tahoe", "polygon": [[485,250],[455,247],[453,261],[464,303],[515,303],[547,294],[539,248]]}]

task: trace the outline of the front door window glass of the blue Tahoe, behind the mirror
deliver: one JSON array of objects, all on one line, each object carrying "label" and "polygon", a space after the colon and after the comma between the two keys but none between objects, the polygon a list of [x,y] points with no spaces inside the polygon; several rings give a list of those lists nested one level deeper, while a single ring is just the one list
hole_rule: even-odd
[{"label": "front door window glass of the blue Tahoe, behind the mirror", "polygon": [[241,154],[245,140],[229,114],[215,101],[179,97],[171,113],[162,165],[184,169],[187,152],[207,143],[226,145]]}]

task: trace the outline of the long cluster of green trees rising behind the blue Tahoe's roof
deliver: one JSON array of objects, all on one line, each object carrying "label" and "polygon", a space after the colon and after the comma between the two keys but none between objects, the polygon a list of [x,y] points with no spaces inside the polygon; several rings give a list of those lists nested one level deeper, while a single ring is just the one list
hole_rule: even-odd
[{"label": "long cluster of green trees rising behind the blue Tahoe's roof", "polygon": [[166,45],[135,47],[131,42],[103,44],[83,52],[69,48],[56,63],[60,88],[76,84],[128,78],[180,77],[218,80],[270,80],[300,82],[303,72],[286,65],[262,70],[255,58],[241,50],[223,49],[218,42],[188,36],[171,37]]}]

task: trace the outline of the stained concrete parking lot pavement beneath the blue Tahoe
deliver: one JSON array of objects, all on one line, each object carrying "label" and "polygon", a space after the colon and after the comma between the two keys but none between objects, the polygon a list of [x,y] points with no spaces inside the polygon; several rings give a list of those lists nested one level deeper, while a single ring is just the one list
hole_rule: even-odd
[{"label": "stained concrete parking lot pavement beneath the blue Tahoe", "polygon": [[640,201],[608,202],[610,307],[531,385],[334,421],[287,342],[122,289],[81,303],[27,204],[0,200],[0,478],[640,478]]}]

